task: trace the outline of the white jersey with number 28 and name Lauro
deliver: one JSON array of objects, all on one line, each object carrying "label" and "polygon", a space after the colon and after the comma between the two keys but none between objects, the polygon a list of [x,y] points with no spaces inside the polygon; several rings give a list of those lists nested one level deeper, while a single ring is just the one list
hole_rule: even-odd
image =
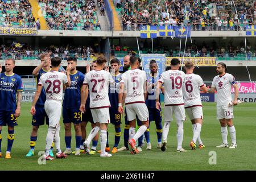
[{"label": "white jersey with number 28 and name Lauro", "polygon": [[63,97],[63,84],[67,84],[67,75],[57,71],[44,73],[38,85],[43,85],[46,90],[46,100],[61,101]]}]

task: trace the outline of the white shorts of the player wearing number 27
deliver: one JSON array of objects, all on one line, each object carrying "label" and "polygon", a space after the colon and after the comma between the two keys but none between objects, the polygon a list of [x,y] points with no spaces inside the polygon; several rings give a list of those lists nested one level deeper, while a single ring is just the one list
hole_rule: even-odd
[{"label": "white shorts of the player wearing number 27", "polygon": [[100,108],[100,109],[91,109],[90,110],[93,117],[94,123],[110,123],[109,117],[109,107]]}]

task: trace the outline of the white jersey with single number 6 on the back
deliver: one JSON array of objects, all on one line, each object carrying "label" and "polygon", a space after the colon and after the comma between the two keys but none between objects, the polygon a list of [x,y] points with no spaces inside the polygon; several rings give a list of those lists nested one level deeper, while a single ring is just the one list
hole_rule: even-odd
[{"label": "white jersey with single number 6 on the back", "polygon": [[183,97],[185,108],[191,106],[202,106],[200,87],[204,86],[203,79],[194,73],[186,74],[183,85]]}]

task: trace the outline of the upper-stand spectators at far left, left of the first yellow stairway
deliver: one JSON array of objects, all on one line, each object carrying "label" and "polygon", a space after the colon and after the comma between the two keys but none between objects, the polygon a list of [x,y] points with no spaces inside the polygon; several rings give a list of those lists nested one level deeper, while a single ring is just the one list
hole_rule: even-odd
[{"label": "upper-stand spectators at far left, left of the first yellow stairway", "polygon": [[40,29],[39,19],[32,15],[32,6],[28,0],[0,1],[0,26]]}]

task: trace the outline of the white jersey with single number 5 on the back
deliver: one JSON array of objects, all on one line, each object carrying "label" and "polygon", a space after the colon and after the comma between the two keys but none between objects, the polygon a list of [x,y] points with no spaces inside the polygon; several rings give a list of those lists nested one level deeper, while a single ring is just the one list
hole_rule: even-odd
[{"label": "white jersey with single number 5 on the back", "polygon": [[144,83],[147,80],[146,72],[140,69],[130,69],[123,73],[120,84],[125,84],[125,104],[144,103]]}]

